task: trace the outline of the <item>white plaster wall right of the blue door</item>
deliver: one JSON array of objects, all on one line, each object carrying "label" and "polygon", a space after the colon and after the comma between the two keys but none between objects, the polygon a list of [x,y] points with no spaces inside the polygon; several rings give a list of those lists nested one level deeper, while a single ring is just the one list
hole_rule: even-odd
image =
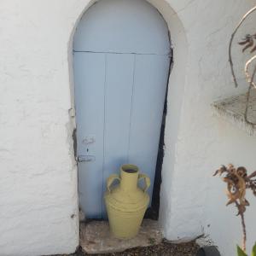
[{"label": "white plaster wall right of the blue door", "polygon": [[[185,85],[175,148],[172,148],[170,137],[177,119],[172,119],[172,92],[169,91],[161,222],[167,239],[189,240],[205,233],[224,256],[235,255],[236,243],[241,239],[239,218],[235,217],[234,207],[224,207],[225,185],[217,177],[212,177],[212,171],[220,164],[230,162],[247,166],[253,171],[256,139],[214,117],[210,103],[244,90],[242,86],[234,89],[227,49],[233,28],[256,1],[169,3],[183,23],[188,57],[186,66],[178,71],[185,76]],[[253,21],[255,24],[255,18]],[[253,21],[248,22],[250,27]],[[242,27],[240,36],[244,33]],[[234,51],[238,55],[237,49]],[[174,65],[176,61],[177,58]],[[239,68],[241,66],[236,70],[240,71]],[[242,78],[242,73],[238,76]],[[242,79],[239,81],[242,83]],[[171,83],[169,86],[172,88],[180,84]],[[251,205],[251,209],[247,210],[248,247],[256,241],[256,223],[253,221],[255,198],[252,198]]]}]

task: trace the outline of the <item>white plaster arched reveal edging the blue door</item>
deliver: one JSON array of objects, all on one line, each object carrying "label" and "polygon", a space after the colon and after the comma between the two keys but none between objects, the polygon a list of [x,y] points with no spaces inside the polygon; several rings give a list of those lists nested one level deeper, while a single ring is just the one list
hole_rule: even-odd
[{"label": "white plaster arched reveal edging the blue door", "polygon": [[[167,115],[166,115],[166,132],[165,132],[165,156],[162,166],[162,183],[160,191],[160,224],[163,227],[166,238],[168,231],[166,227],[170,225],[170,214],[172,212],[172,176],[175,167],[175,150],[177,143],[178,128],[180,124],[180,116],[183,104],[183,91],[185,84],[185,76],[187,68],[188,41],[183,28],[183,24],[179,19],[177,12],[172,9],[170,2],[172,0],[145,0],[151,3],[154,8],[158,9],[160,15],[166,20],[169,32],[172,38],[173,49],[173,65],[168,83],[167,95]],[[74,82],[73,82],[73,35],[79,24],[84,12],[90,8],[96,0],[84,1],[84,9],[79,10],[76,22],[73,25],[69,42],[68,42],[68,65],[69,65],[69,81],[71,103],[74,109]],[[75,127],[75,113],[71,109],[73,116],[73,126]],[[78,195],[79,196],[79,195]]]}]

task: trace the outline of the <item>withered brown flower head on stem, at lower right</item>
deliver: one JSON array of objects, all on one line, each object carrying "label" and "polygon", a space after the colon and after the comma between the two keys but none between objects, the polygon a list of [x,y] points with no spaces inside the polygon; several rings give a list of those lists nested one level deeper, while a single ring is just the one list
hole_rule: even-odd
[{"label": "withered brown flower head on stem, at lower right", "polygon": [[229,201],[227,206],[234,204],[237,207],[237,216],[241,217],[242,226],[242,250],[246,252],[247,230],[244,219],[244,213],[246,207],[250,204],[246,199],[247,189],[253,191],[253,195],[256,196],[256,171],[252,174],[247,174],[245,167],[236,168],[233,165],[221,166],[213,176],[219,175],[223,178],[223,181],[227,183],[227,195]]}]

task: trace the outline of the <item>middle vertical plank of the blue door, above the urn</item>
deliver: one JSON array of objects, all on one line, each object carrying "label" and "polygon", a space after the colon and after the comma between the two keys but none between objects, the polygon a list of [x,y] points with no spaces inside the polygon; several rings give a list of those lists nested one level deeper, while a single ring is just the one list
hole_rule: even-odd
[{"label": "middle vertical plank of the blue door, above the urn", "polygon": [[135,55],[107,54],[103,191],[108,176],[128,162],[134,60]]}]

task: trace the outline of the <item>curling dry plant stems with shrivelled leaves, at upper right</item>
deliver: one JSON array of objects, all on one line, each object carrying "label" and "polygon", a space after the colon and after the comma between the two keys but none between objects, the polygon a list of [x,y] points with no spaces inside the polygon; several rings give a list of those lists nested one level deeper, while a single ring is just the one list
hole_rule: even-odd
[{"label": "curling dry plant stems with shrivelled leaves, at upper right", "polygon": [[[232,77],[233,77],[233,80],[234,80],[234,83],[235,83],[236,87],[238,87],[238,82],[237,82],[236,73],[235,73],[235,70],[234,70],[231,48],[232,48],[232,45],[233,45],[233,40],[235,38],[236,32],[241,27],[241,25],[244,23],[244,21],[247,19],[247,17],[249,15],[251,15],[255,10],[256,10],[256,6],[254,6],[252,9],[250,9],[247,12],[247,14],[244,15],[241,18],[240,22],[236,26],[235,31],[231,34],[231,38],[230,38],[229,62],[230,62]],[[250,49],[250,53],[253,54],[256,51],[256,33],[254,33],[253,35],[247,34],[245,36],[245,38],[243,38],[241,40],[241,42],[238,42],[238,44],[243,46],[242,52],[245,52],[246,50]],[[248,90],[247,90],[246,108],[245,108],[245,112],[244,112],[244,121],[247,124],[254,126],[254,125],[256,125],[256,123],[254,123],[254,122],[252,122],[248,119],[249,102],[250,102],[250,98],[251,98],[251,95],[252,95],[252,90],[256,89],[256,82],[254,81],[254,77],[255,77],[255,73],[256,73],[256,64],[253,67],[253,73],[251,73],[251,74],[249,73],[249,67],[252,67],[253,61],[256,61],[256,55],[253,55],[249,60],[247,60],[247,62],[245,64],[245,67],[244,67],[244,73],[245,73],[245,76],[246,76],[246,79],[247,79],[247,83],[249,84]]]}]

